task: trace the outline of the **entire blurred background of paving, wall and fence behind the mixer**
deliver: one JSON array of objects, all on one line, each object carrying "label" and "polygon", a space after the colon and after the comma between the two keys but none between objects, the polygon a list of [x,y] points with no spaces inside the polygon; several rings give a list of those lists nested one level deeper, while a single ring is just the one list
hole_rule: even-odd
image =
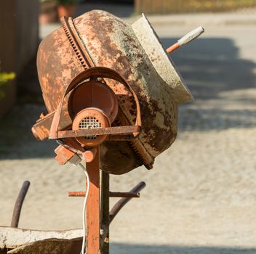
[{"label": "entire blurred background of paving, wall and fence behind the mixer", "polygon": [[[104,9],[132,24],[147,15],[164,48],[202,25],[170,57],[194,101],[180,105],[175,144],[152,171],[111,176],[113,191],[148,185],[111,225],[111,253],[256,253],[255,0],[1,0],[0,226],[9,226],[23,181],[31,188],[20,227],[81,228],[83,173],[34,139],[45,112],[36,73],[40,41],[59,16]],[[116,200],[111,201],[112,203]]]}]

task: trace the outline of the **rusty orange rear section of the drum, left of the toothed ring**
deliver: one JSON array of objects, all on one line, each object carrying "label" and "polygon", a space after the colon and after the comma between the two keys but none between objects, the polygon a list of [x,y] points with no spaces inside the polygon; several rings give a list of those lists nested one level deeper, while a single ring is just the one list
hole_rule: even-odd
[{"label": "rusty orange rear section of the drum, left of the toothed ring", "polygon": [[84,67],[68,41],[63,28],[55,30],[39,45],[37,71],[48,112],[55,111],[65,86]]}]

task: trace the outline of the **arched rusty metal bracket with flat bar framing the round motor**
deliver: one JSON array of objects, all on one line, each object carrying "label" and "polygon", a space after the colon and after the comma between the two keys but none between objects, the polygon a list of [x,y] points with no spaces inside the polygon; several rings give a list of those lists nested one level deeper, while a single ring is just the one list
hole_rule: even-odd
[{"label": "arched rusty metal bracket with flat bar framing the round motor", "polygon": [[[60,123],[60,115],[61,115],[61,110],[63,108],[63,102],[65,99],[65,96],[73,89],[78,86],[81,81],[84,81],[87,78],[92,78],[92,77],[97,77],[97,78],[110,78],[115,81],[118,81],[119,83],[122,83],[124,86],[129,89],[129,91],[132,93],[132,96],[135,99],[136,107],[137,107],[137,116],[136,116],[136,121],[135,121],[135,126],[120,126],[119,128],[125,130],[129,130],[129,133],[132,133],[134,137],[136,137],[138,134],[140,134],[140,128],[141,128],[141,118],[140,118],[140,103],[139,100],[137,99],[137,95],[135,94],[135,91],[132,89],[132,86],[127,83],[127,81],[115,70],[112,70],[108,67],[91,67],[87,70],[84,70],[83,72],[79,73],[79,75],[76,75],[75,78],[71,81],[71,83],[66,87],[65,92],[63,94],[63,97],[60,101],[60,105],[57,107],[57,110],[55,112],[55,115],[52,120],[52,126],[49,131],[49,139],[60,139],[63,138],[64,136],[67,137],[67,131],[58,131],[59,128],[59,123]],[[135,128],[132,128],[135,127]],[[106,134],[112,134],[111,129],[113,128],[113,134],[116,132],[115,127],[110,127],[108,128],[108,131],[106,131]],[[84,131],[90,131],[90,130],[81,130],[82,132]],[[104,132],[104,131],[101,131]],[[77,134],[77,131],[68,131],[68,137],[74,137]],[[127,131],[126,131],[127,134]],[[85,135],[84,135],[85,136]]]}]

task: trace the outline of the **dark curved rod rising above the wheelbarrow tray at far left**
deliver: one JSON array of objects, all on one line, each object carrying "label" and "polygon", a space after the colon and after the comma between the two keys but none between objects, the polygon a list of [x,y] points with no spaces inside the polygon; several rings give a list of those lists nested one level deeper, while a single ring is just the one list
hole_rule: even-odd
[{"label": "dark curved rod rising above the wheelbarrow tray at far left", "polygon": [[25,195],[28,192],[28,188],[29,188],[30,184],[31,183],[29,181],[24,181],[23,186],[20,189],[20,193],[17,196],[17,200],[15,202],[15,207],[13,208],[13,213],[12,213],[11,226],[13,228],[17,228],[17,226],[19,225],[21,208],[23,206],[23,201],[25,199]]}]

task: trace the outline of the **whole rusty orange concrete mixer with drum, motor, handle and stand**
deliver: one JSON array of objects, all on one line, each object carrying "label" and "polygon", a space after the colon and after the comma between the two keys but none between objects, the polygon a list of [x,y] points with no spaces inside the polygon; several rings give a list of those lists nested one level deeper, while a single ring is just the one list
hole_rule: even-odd
[{"label": "whole rusty orange concrete mixer with drum, motor, handle and stand", "polygon": [[[41,114],[32,131],[37,139],[57,140],[60,164],[84,168],[86,192],[70,192],[86,197],[81,253],[108,253],[109,224],[145,187],[141,182],[130,192],[110,192],[109,173],[140,165],[151,169],[155,157],[175,141],[177,106],[191,93],[167,52],[203,29],[166,51],[145,15],[127,25],[94,10],[61,22],[39,46],[37,68],[48,113]],[[109,197],[122,197],[110,213]]]}]

